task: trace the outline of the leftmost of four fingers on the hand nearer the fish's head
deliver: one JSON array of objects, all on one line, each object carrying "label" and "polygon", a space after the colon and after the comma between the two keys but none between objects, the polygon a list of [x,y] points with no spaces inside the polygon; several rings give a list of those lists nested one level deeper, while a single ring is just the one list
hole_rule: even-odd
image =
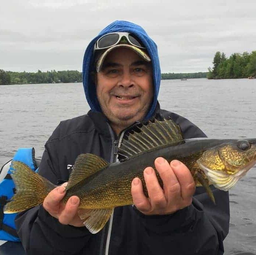
[{"label": "leftmost of four fingers on the hand nearer the fish's head", "polygon": [[142,182],[139,178],[133,179],[131,193],[133,203],[140,212],[148,213],[151,211],[151,204],[143,192]]}]

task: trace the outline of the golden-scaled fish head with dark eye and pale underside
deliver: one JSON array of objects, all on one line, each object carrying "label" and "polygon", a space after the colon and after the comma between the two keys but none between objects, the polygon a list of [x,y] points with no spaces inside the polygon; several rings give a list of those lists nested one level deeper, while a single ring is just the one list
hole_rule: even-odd
[{"label": "golden-scaled fish head with dark eye and pale underside", "polygon": [[237,140],[204,151],[197,160],[215,188],[229,190],[256,164],[256,143]]}]

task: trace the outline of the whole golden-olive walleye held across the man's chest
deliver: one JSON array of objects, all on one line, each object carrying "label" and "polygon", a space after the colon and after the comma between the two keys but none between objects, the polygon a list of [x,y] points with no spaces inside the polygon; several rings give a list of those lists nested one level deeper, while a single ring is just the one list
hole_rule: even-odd
[{"label": "whole golden-olive walleye held across the man's chest", "polygon": [[[256,139],[183,139],[172,119],[152,119],[125,132],[118,144],[119,162],[108,163],[93,154],[80,154],[69,176],[67,193],[80,198],[79,217],[91,233],[100,231],[114,208],[133,204],[131,182],[139,177],[147,194],[143,170],[155,169],[154,160],[178,159],[191,171],[196,186],[204,186],[214,201],[211,184],[229,190],[256,163]],[[56,186],[22,162],[12,162],[17,193],[4,213],[15,213],[42,204]],[[157,173],[157,171],[156,171]],[[163,186],[157,173],[158,181]]]}]

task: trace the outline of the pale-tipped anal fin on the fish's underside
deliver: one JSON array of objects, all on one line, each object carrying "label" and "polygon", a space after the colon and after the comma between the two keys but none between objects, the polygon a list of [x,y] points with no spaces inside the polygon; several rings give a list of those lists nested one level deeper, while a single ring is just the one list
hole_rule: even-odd
[{"label": "pale-tipped anal fin on the fish's underside", "polygon": [[78,216],[84,221],[86,228],[92,233],[98,233],[109,220],[114,208],[106,209],[79,209]]}]

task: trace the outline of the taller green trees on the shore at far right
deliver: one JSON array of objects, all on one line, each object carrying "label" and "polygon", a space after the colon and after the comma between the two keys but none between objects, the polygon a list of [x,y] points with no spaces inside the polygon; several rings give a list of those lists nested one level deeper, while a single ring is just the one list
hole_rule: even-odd
[{"label": "taller green trees on the shore at far right", "polygon": [[233,53],[229,58],[225,53],[217,51],[212,61],[213,67],[208,68],[208,79],[256,78],[256,51]]}]

